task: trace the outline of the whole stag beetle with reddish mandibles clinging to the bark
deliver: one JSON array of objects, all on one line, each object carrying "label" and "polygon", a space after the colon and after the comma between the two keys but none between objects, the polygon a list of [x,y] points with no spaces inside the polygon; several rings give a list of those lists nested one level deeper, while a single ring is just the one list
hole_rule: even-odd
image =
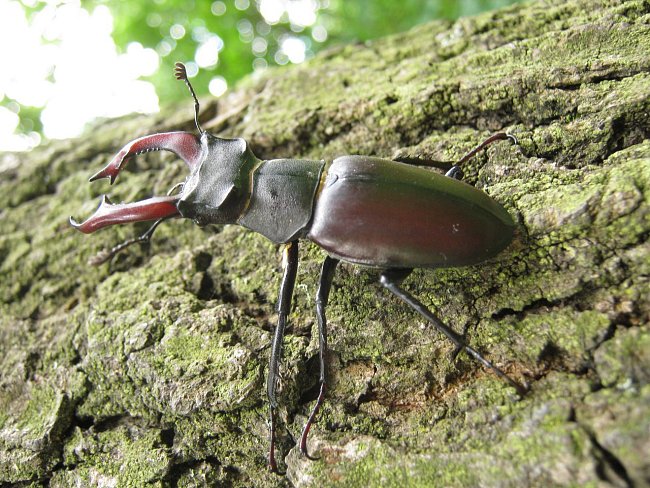
[{"label": "whole stag beetle with reddish mandibles clinging to the bark", "polygon": [[262,161],[244,139],[224,139],[203,130],[199,124],[199,102],[182,63],[176,63],[175,75],[186,83],[194,99],[198,137],[189,132],[168,132],[136,139],[90,181],[109,178],[112,184],[129,158],[165,150],[189,166],[190,175],[177,185],[180,191],[175,193],[174,187],[167,196],[128,204],[112,204],[104,196],[97,211],[86,221],[77,223],[70,217],[70,223],[81,232],[91,233],[109,225],[155,220],[145,234],[104,252],[93,264],[107,261],[133,243],[148,241],[158,224],[172,217],[189,218],[199,225],[239,224],[285,245],[278,323],[266,387],[271,470],[277,472],[276,389],[282,340],[296,281],[299,239],[309,239],[327,253],[316,293],[320,392],[300,439],[304,455],[309,457],[307,436],[325,395],[325,309],[339,261],[381,269],[381,285],[433,324],[453,342],[457,352],[465,350],[519,394],[525,393],[524,387],[470,347],[461,335],[400,286],[413,268],[475,264],[508,246],[515,229],[510,215],[487,194],[461,182],[459,165],[487,145],[507,138],[514,140],[513,136],[499,133],[486,139],[444,176],[369,156],[342,156],[329,162]]}]

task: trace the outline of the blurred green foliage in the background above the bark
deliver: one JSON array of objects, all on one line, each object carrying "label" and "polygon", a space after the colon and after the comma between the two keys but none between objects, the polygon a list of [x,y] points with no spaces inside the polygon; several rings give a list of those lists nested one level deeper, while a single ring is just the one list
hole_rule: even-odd
[{"label": "blurred green foliage in the background above the bark", "polygon": [[[148,77],[161,101],[186,94],[178,90],[171,76],[176,61],[188,65],[195,75],[198,95],[208,93],[209,82],[216,76],[232,86],[237,80],[266,66],[291,62],[282,46],[289,38],[304,45],[309,58],[316,52],[340,43],[366,41],[401,32],[432,19],[455,19],[481,11],[496,9],[518,0],[81,0],[92,11],[106,5],[114,17],[113,39],[124,52],[137,42],[155,49],[160,57],[156,73]],[[49,1],[23,0],[28,16]],[[268,12],[283,9],[275,19]],[[265,10],[266,9],[266,10]],[[270,9],[270,10],[269,10]],[[303,24],[295,21],[295,11],[307,12]],[[309,20],[309,12],[312,18]],[[263,14],[267,14],[266,17]],[[307,21],[304,19],[307,18]],[[306,25],[305,25],[306,24]],[[218,37],[216,37],[218,36]],[[201,69],[195,63],[200,46],[208,40],[218,42],[215,63]],[[294,44],[295,45],[295,44]],[[197,72],[198,71],[198,72]],[[0,105],[16,106],[5,98]],[[14,107],[15,108],[15,107]],[[41,107],[19,107],[19,131],[42,131]],[[14,110],[16,111],[16,110]]]}]

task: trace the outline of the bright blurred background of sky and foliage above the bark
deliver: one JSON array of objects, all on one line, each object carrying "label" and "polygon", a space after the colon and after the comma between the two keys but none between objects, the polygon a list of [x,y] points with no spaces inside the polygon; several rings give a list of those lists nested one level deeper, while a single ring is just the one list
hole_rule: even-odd
[{"label": "bright blurred background of sky and foliage above the bark", "polygon": [[0,0],[0,151],[79,135],[98,117],[223,95],[269,66],[517,0]]}]

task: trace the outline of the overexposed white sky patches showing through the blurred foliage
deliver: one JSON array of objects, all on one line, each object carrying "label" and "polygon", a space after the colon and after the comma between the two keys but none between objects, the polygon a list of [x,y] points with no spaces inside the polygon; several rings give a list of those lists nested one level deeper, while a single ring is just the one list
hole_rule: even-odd
[{"label": "overexposed white sky patches showing through the blurred foliage", "polygon": [[[24,3],[30,1],[34,0]],[[235,1],[236,8],[249,5],[249,0]],[[212,3],[214,15],[223,15],[225,8],[224,2]],[[261,0],[259,8],[270,24],[278,22],[286,12],[292,23],[302,26],[312,25],[318,10],[314,0]],[[185,34],[174,31],[179,27],[182,29],[180,25],[172,27],[171,37]],[[103,5],[89,12],[81,8],[79,0],[63,4],[52,0],[28,22],[18,0],[0,0],[0,100],[6,95],[22,105],[44,107],[44,133],[53,139],[79,135],[84,125],[97,117],[158,111],[154,86],[139,78],[154,73],[159,55],[166,53],[134,42],[125,53],[118,54],[112,29],[113,17]],[[319,35],[323,39],[318,39]],[[326,35],[314,31],[317,41],[323,41]],[[264,41],[254,41],[259,40]],[[265,52],[266,44],[262,46],[261,41],[257,48]],[[206,33],[196,51],[196,64],[188,65],[188,74],[192,76],[199,66],[214,66],[222,48],[219,36]],[[281,41],[276,60],[300,63],[305,53],[305,43],[289,36]],[[209,89],[219,96],[227,84],[221,76],[215,76]],[[36,132],[14,133],[19,108],[17,104],[9,110],[0,107],[0,151],[23,151],[40,142]]]}]

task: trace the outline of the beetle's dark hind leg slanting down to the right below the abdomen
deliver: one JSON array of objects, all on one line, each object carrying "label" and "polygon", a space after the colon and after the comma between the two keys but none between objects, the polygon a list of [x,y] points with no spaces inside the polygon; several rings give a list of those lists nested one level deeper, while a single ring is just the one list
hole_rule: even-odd
[{"label": "beetle's dark hind leg slanting down to the right below the abdomen", "polygon": [[433,326],[436,329],[438,329],[440,332],[442,332],[451,342],[453,342],[457,348],[464,349],[470,356],[473,356],[474,359],[480,362],[483,366],[494,371],[499,378],[503,379],[506,383],[512,386],[515,390],[517,390],[517,393],[519,393],[519,395],[521,396],[525,395],[527,391],[526,388],[524,388],[519,383],[512,380],[503,371],[501,371],[494,364],[492,364],[490,361],[485,359],[481,355],[481,353],[479,353],[476,349],[467,345],[460,335],[458,335],[452,329],[450,329],[445,324],[443,324],[440,321],[440,319],[438,319],[438,317],[436,317],[422,302],[420,302],[417,298],[415,298],[413,295],[411,295],[410,293],[408,293],[406,290],[404,290],[402,287],[399,286],[401,281],[408,275],[409,272],[410,270],[403,270],[403,269],[387,270],[382,273],[380,282],[386,289],[388,289],[396,297],[398,297],[400,300],[405,302],[413,310],[418,312],[425,319],[427,319],[431,324],[433,324]]}]

